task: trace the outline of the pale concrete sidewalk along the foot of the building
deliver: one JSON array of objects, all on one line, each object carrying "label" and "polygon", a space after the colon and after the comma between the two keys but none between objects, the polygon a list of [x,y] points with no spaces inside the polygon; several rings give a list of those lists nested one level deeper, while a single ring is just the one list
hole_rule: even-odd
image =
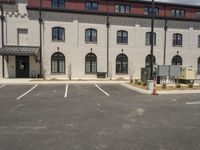
[{"label": "pale concrete sidewalk along the foot of the building", "polygon": [[128,83],[128,80],[117,81],[117,80],[108,80],[108,79],[99,79],[99,80],[43,80],[43,79],[3,79],[0,78],[0,84],[9,85],[9,84],[121,84]]}]

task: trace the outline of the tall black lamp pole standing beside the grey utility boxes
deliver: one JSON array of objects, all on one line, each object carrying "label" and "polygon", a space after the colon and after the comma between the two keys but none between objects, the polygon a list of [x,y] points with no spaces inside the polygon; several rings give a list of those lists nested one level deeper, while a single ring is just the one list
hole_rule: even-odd
[{"label": "tall black lamp pole standing beside the grey utility boxes", "polygon": [[153,73],[153,48],[154,48],[154,38],[153,38],[153,35],[154,35],[154,0],[152,0],[152,10],[151,10],[151,80],[153,80],[154,78],[154,73]]}]

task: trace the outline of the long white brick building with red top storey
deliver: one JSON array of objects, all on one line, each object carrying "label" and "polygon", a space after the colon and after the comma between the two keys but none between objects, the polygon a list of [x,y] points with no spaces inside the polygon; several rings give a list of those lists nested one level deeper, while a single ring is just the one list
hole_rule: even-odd
[{"label": "long white brick building with red top storey", "polygon": [[[151,2],[0,0],[0,76],[140,78],[150,65]],[[200,74],[200,6],[155,3],[154,63]]]}]

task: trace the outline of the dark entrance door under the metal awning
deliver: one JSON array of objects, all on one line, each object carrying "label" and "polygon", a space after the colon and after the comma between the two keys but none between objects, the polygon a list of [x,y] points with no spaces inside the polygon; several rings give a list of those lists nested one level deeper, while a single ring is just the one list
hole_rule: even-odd
[{"label": "dark entrance door under the metal awning", "polygon": [[29,56],[16,56],[16,78],[29,78]]}]

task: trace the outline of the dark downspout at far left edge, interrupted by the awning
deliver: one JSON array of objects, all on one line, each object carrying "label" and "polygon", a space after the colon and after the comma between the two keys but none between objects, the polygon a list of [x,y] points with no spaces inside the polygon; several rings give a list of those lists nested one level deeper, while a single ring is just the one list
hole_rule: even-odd
[{"label": "dark downspout at far left edge, interrupted by the awning", "polygon": [[[2,40],[2,47],[4,46],[4,10],[3,4],[0,4],[1,7],[1,40]],[[5,68],[4,68],[4,56],[2,56],[2,77],[5,78]]]}]

